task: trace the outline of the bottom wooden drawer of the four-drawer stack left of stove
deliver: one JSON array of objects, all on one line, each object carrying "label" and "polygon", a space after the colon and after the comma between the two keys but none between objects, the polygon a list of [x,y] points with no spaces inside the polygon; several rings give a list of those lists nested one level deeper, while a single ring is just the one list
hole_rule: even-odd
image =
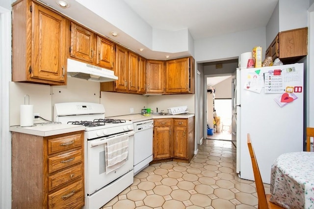
[{"label": "bottom wooden drawer of the four-drawer stack left of stove", "polygon": [[83,183],[78,181],[48,195],[49,209],[77,209],[84,205]]}]

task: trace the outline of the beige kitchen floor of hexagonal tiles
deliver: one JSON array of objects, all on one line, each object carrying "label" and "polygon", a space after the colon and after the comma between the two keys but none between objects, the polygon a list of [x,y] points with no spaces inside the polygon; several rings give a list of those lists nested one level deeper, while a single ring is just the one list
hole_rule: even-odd
[{"label": "beige kitchen floor of hexagonal tiles", "polygon": [[148,166],[102,209],[257,209],[255,183],[235,173],[235,152],[231,141],[205,139],[190,163]]}]

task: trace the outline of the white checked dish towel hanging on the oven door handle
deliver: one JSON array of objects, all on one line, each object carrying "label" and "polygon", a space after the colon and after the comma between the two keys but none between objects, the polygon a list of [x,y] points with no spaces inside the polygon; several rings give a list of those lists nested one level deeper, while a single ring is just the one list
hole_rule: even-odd
[{"label": "white checked dish towel hanging on the oven door handle", "polygon": [[106,174],[124,165],[129,156],[129,135],[108,139],[105,143]]}]

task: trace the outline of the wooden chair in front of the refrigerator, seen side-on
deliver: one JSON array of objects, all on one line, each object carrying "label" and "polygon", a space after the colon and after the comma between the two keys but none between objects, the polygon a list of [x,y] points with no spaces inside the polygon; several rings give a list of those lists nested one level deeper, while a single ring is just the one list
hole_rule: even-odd
[{"label": "wooden chair in front of the refrigerator, seen side-on", "polygon": [[282,207],[274,203],[271,203],[269,201],[270,196],[271,196],[270,194],[265,194],[265,189],[262,182],[262,176],[260,173],[259,165],[257,164],[257,161],[256,161],[255,153],[254,153],[253,146],[251,143],[251,136],[249,133],[247,134],[247,146],[249,147],[249,153],[251,156],[251,161],[252,161],[252,166],[253,166],[257,197],[259,199],[259,209],[283,209]]}]

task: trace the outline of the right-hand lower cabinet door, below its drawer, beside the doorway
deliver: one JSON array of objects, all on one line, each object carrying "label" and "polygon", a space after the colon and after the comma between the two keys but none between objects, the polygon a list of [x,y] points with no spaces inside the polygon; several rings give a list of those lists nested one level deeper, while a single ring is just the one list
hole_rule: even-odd
[{"label": "right-hand lower cabinet door, below its drawer, beside the doorway", "polygon": [[174,127],[173,157],[187,158],[187,130],[186,127]]}]

